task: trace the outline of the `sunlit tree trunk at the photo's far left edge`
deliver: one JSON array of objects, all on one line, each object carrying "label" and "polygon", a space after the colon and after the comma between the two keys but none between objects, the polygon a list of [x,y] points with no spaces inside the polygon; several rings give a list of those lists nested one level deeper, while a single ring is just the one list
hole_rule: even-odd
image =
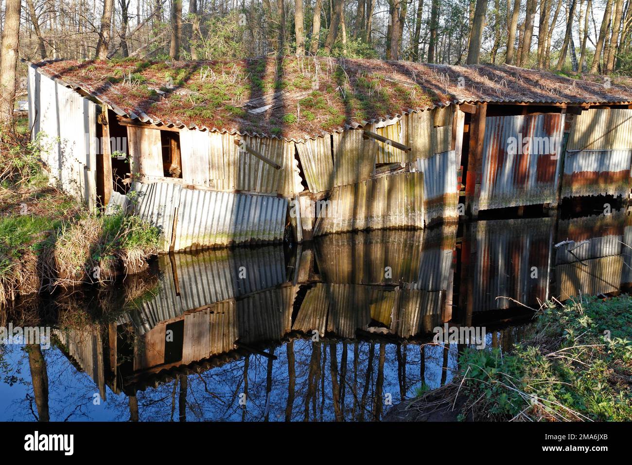
[{"label": "sunlit tree trunk at the photo's far left edge", "polygon": [[20,42],[20,9],[21,0],[6,0],[0,56],[0,124],[9,123],[13,118],[15,68],[18,64]]}]

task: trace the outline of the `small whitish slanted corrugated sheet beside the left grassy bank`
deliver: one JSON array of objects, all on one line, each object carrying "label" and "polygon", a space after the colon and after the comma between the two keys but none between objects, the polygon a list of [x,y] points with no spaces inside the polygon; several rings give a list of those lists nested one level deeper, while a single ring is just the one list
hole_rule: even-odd
[{"label": "small whitish slanted corrugated sheet beside the left grassy bank", "polygon": [[161,230],[161,250],[169,251],[173,234],[173,220],[180,204],[181,186],[168,182],[133,182],[131,203],[133,213]]}]

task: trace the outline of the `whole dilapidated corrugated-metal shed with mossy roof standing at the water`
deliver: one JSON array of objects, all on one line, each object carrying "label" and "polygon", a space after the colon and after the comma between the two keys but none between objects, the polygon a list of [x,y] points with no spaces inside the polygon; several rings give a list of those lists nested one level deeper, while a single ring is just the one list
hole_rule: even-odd
[{"label": "whole dilapidated corrugated-metal shed with mossy roof standing at the water", "polygon": [[[459,196],[473,216],[554,206],[562,172],[564,195],[596,192],[576,190],[585,171],[610,173],[599,192],[629,183],[623,84],[314,57],[46,61],[28,72],[51,180],[95,207],[139,192],[133,209],[163,227],[165,251],[278,241],[289,224],[299,241],[422,228],[465,213]],[[599,147],[584,144],[593,127]],[[567,139],[576,154],[564,156]],[[607,152],[599,166],[582,161],[588,147]]]}]

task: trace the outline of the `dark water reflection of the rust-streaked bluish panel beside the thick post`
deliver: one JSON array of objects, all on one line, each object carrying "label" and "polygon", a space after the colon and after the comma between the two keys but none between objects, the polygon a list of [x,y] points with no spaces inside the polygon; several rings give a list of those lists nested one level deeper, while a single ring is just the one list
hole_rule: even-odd
[{"label": "dark water reflection of the rust-streaked bluish panel beside the thick post", "polygon": [[[473,224],[475,257],[473,311],[507,309],[516,302],[538,307],[549,298],[552,218],[477,221]],[[511,301],[509,299],[514,299]]]}]

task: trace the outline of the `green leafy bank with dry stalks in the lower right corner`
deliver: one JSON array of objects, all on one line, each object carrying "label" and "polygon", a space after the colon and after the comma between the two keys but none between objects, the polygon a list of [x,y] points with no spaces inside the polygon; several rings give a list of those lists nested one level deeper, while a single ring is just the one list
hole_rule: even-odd
[{"label": "green leafy bank with dry stalks in the lower right corner", "polygon": [[[632,297],[550,302],[509,353],[466,349],[454,381],[399,417],[469,421],[632,419]],[[393,418],[395,419],[395,418]]]}]

